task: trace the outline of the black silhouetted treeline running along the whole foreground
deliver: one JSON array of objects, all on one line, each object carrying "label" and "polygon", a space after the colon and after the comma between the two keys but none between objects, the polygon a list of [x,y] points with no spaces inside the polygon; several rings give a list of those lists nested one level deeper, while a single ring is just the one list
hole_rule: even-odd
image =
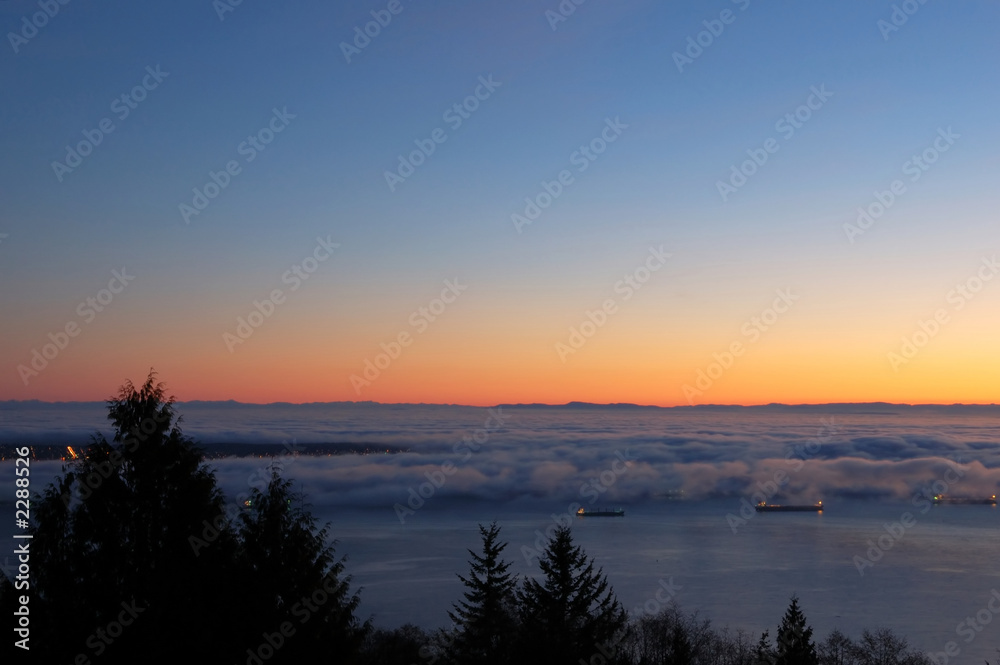
[{"label": "black silhouetted treeline running along the whole foreground", "polygon": [[451,630],[376,630],[357,616],[344,559],[287,480],[272,470],[227,504],[153,374],[123,386],[108,409],[113,440],[95,437],[32,500],[32,539],[18,545],[27,553],[0,576],[2,649],[12,656],[0,662],[929,662],[885,630],[817,644],[795,598],[773,636],[717,630],[674,605],[629,617],[565,527],[538,552],[539,575],[518,580],[500,528],[481,526]]}]

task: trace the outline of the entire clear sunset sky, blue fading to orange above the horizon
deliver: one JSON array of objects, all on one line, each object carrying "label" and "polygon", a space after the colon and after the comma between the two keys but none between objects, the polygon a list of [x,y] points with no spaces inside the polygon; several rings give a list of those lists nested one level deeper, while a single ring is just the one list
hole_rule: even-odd
[{"label": "entire clear sunset sky, blue fading to orange above the horizon", "polygon": [[0,399],[997,401],[995,1],[46,6]]}]

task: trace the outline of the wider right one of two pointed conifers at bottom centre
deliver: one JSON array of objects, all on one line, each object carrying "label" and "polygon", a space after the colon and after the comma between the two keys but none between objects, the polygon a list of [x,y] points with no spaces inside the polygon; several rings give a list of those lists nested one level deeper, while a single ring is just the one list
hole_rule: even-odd
[{"label": "wider right one of two pointed conifers at bottom centre", "polygon": [[560,527],[539,559],[543,579],[526,579],[518,593],[523,663],[556,665],[617,651],[627,614],[601,569]]}]

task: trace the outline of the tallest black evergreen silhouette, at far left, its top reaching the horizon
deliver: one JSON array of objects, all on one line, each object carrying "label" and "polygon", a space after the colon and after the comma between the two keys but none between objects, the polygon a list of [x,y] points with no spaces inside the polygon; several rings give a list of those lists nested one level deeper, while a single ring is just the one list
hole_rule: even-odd
[{"label": "tallest black evergreen silhouette, at far left, its top reaching the horizon", "polygon": [[[126,382],[107,404],[113,440],[95,435],[33,505],[38,655],[114,663],[201,650],[223,658],[213,645],[239,620],[218,606],[239,584],[214,474],[180,431],[155,373],[140,387]],[[213,523],[213,542],[196,553],[189,538]],[[93,638],[123,616],[120,636]]]}]

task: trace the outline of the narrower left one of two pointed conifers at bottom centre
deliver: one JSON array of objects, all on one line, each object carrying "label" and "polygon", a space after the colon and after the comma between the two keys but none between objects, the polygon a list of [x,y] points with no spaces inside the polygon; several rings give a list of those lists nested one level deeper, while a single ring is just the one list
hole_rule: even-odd
[{"label": "narrower left one of two pointed conifers at bottom centre", "polygon": [[456,632],[448,659],[454,663],[500,665],[510,662],[510,649],[517,630],[514,609],[517,580],[510,563],[501,557],[507,543],[500,542],[500,527],[479,525],[482,555],[468,550],[469,576],[458,575],[466,586],[465,600],[454,605],[448,617]]}]

